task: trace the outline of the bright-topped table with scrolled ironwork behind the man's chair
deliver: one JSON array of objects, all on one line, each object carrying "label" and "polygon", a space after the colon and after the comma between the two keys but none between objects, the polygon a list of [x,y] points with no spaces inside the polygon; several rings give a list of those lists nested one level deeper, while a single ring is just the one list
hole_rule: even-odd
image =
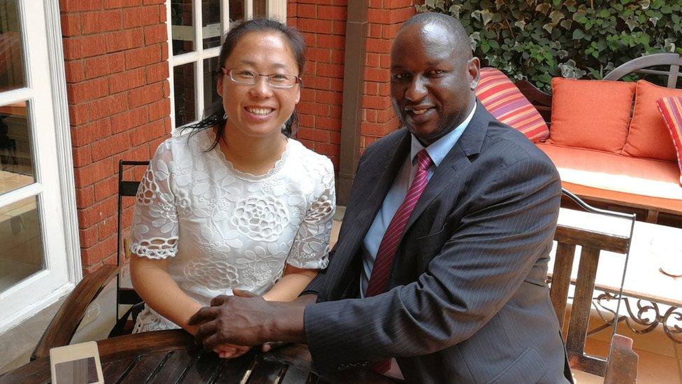
[{"label": "bright-topped table with scrolled ironwork behind the man's chair", "polygon": [[[561,225],[608,234],[630,234],[628,220],[567,208],[561,208],[558,222]],[[621,318],[621,321],[624,320],[631,329],[636,329],[635,332],[651,332],[662,325],[670,339],[682,343],[682,277],[668,276],[660,269],[670,259],[682,262],[682,229],[635,222],[623,283],[624,305],[621,306],[620,315],[629,315],[629,318]],[[552,257],[549,263],[550,276],[553,260]],[[625,255],[602,251],[597,266],[595,289],[604,294],[595,297],[597,306],[616,300],[624,266]],[[577,268],[576,262],[573,265],[573,279]]]}]

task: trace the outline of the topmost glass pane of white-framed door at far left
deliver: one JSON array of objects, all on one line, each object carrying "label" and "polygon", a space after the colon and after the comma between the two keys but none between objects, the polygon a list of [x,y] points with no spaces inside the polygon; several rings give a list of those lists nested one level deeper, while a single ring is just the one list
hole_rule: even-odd
[{"label": "topmost glass pane of white-framed door at far left", "polygon": [[20,31],[17,1],[0,1],[0,91],[24,87]]}]

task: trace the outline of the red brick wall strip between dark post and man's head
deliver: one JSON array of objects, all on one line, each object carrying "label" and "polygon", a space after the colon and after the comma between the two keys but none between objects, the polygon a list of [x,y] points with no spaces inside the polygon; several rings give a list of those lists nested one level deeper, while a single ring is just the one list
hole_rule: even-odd
[{"label": "red brick wall strip between dark post and man's head", "polygon": [[370,0],[367,13],[369,30],[365,62],[365,94],[360,148],[385,136],[398,127],[391,106],[391,42],[402,22],[416,13],[415,0]]}]

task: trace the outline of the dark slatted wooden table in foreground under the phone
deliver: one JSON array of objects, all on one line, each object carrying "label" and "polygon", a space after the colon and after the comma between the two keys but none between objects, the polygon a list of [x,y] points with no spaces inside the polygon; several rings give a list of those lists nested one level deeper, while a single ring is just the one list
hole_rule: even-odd
[{"label": "dark slatted wooden table in foreground under the phone", "polygon": [[[312,371],[310,353],[301,345],[221,359],[195,346],[182,330],[113,337],[97,346],[106,383],[393,383],[368,369],[321,378]],[[0,383],[48,382],[49,357],[0,376]]]}]

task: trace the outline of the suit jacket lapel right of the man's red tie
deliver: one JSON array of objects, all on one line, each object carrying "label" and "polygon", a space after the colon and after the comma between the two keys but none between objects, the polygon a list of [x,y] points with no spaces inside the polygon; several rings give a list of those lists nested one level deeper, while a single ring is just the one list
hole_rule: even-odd
[{"label": "suit jacket lapel right of the man's red tie", "polygon": [[[472,120],[469,122],[469,125],[467,125],[457,143],[440,163],[440,166],[436,168],[433,176],[428,180],[424,192],[421,194],[416,206],[414,206],[414,210],[409,215],[409,220],[407,220],[407,225],[405,225],[405,231],[402,232],[403,235],[407,232],[409,227],[412,227],[421,213],[426,210],[426,207],[428,207],[428,205],[431,204],[446,187],[452,184],[453,175],[461,173],[471,164],[469,157],[481,152],[481,146],[483,145],[486,132],[488,131],[488,122],[491,118],[491,115],[486,111],[480,101],[477,101],[476,112],[474,112]],[[453,169],[454,172],[452,171]]]}]

